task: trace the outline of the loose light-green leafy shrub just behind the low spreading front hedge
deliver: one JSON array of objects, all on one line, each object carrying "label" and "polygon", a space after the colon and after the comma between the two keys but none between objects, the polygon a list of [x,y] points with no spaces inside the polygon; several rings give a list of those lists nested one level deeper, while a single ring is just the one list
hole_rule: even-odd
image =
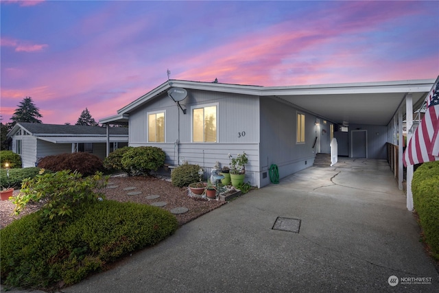
[{"label": "loose light-green leafy shrub just behind the low spreading front hedge", "polygon": [[38,174],[23,180],[21,192],[12,202],[14,212],[20,213],[28,202],[41,202],[43,215],[53,219],[64,215],[72,216],[73,207],[82,202],[95,202],[103,198],[99,189],[105,187],[108,177],[102,180],[102,173],[82,178],[82,174],[62,170],[56,173]]}]

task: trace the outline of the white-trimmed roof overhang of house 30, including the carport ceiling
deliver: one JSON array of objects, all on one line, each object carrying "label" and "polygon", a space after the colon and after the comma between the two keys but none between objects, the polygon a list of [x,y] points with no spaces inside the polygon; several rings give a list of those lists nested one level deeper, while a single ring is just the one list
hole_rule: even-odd
[{"label": "white-trimmed roof overhang of house 30, including the carport ceiling", "polygon": [[[305,86],[254,86],[169,80],[118,110],[118,115],[99,120],[99,123],[115,121],[121,119],[118,117],[124,116],[128,122],[128,115],[133,110],[163,95],[171,87],[181,87],[187,90],[270,97],[337,124],[388,125],[403,104],[406,95],[412,95],[414,106],[420,105],[434,82],[435,79]],[[416,110],[415,107],[414,109]],[[405,107],[403,113],[405,114]]]}]

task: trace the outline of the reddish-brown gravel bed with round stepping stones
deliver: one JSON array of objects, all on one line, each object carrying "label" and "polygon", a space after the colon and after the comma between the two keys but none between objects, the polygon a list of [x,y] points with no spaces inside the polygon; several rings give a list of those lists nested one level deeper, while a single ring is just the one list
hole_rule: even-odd
[{"label": "reddish-brown gravel bed with round stepping stones", "polygon": [[[187,187],[174,187],[169,180],[152,176],[111,177],[108,181],[108,187],[104,190],[105,196],[108,200],[117,200],[119,202],[139,202],[141,204],[166,202],[165,207],[162,207],[162,209],[166,209],[167,211],[171,211],[178,207],[186,207],[189,211],[175,215],[180,225],[186,224],[187,222],[200,217],[200,215],[204,215],[204,213],[208,213],[226,203],[219,200],[193,198],[188,195]],[[135,188],[127,189],[128,187]],[[133,191],[141,192],[141,194],[128,195]],[[19,194],[19,190],[14,191],[14,196],[16,194]],[[154,198],[155,196],[159,197]],[[0,228],[3,228],[23,215],[38,210],[38,207],[35,205],[28,205],[25,211],[21,212],[19,216],[13,215],[13,210],[14,204],[12,204],[12,202],[9,200],[0,200]]]}]

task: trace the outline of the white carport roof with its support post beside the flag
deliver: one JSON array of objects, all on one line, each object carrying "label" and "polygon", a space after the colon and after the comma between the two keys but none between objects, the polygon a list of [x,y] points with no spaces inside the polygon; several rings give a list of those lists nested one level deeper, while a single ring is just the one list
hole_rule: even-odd
[{"label": "white carport roof with its support post beside the flag", "polygon": [[[387,141],[396,150],[393,161],[399,189],[403,189],[403,133],[407,141],[418,120],[414,110],[425,101],[435,80],[402,80],[393,82],[364,82],[353,84],[323,84],[309,86],[272,86],[262,95],[283,99],[298,108],[324,117],[338,126],[348,128],[351,137],[355,129],[350,125],[386,126]],[[403,132],[403,121],[405,130]],[[370,142],[369,142],[370,143]],[[352,153],[350,156],[353,156]],[[367,155],[366,155],[367,157]],[[407,166],[407,209],[413,209],[411,182],[413,165]]]}]

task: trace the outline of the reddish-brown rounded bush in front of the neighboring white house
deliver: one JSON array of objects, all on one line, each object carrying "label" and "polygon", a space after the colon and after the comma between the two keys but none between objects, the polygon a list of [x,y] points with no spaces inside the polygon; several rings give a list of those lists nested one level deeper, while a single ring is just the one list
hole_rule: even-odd
[{"label": "reddish-brown rounded bush in front of the neighboring white house", "polygon": [[84,176],[104,171],[102,160],[88,152],[73,152],[71,154],[55,154],[45,156],[38,161],[38,167],[57,172],[62,170],[78,171]]}]

